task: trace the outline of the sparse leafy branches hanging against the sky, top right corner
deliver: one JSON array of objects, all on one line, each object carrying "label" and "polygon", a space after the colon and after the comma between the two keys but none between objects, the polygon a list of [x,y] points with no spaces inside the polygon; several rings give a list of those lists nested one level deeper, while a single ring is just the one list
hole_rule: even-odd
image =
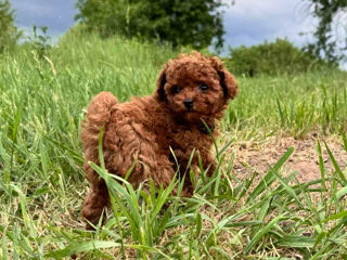
[{"label": "sparse leafy branches hanging against the sky, top right corner", "polygon": [[[343,39],[342,47],[336,44],[334,39],[333,22],[338,15],[343,17],[343,26],[347,26],[347,0],[304,0],[309,3],[309,9],[313,17],[319,20],[318,26],[313,34],[314,43],[307,46],[307,51],[316,56],[322,56],[331,63],[337,63],[346,57],[346,54],[340,51],[347,51],[347,37]],[[347,27],[345,28],[347,31]]]}]

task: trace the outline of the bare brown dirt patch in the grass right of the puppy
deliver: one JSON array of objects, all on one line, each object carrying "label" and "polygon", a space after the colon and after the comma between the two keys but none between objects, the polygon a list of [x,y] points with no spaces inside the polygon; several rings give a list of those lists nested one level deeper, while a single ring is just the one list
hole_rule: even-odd
[{"label": "bare brown dirt patch in the grass right of the puppy", "polygon": [[233,150],[236,156],[234,166],[236,178],[247,179],[254,172],[261,178],[268,172],[269,166],[272,167],[293,146],[295,152],[283,166],[284,174],[297,171],[296,177],[300,182],[321,179],[317,140],[321,143],[322,157],[327,172],[334,171],[334,167],[323,141],[326,142],[338,166],[344,170],[347,167],[347,152],[342,139],[310,135],[295,140],[294,138],[272,136],[261,142],[247,141],[235,144]]}]

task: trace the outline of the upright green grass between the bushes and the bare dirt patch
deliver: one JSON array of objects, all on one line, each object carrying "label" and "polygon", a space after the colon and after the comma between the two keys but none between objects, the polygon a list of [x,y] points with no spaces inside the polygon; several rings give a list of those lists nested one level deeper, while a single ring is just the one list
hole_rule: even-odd
[{"label": "upright green grass between the bushes and the bare dirt patch", "polygon": [[347,74],[240,78],[240,94],[226,114],[224,130],[243,138],[285,132],[342,133],[347,125]]}]

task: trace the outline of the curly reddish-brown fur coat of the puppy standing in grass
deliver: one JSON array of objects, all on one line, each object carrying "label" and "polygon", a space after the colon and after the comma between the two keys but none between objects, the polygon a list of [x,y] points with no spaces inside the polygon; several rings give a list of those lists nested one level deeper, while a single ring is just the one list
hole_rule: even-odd
[{"label": "curly reddish-brown fur coat of the puppy standing in grass", "polygon": [[[204,91],[202,84],[208,90]],[[180,172],[185,172],[194,148],[192,166],[197,165],[196,154],[200,153],[204,167],[214,172],[213,141],[202,121],[213,128],[236,93],[234,77],[218,57],[193,52],[164,65],[153,95],[134,98],[127,103],[118,103],[110,92],[94,96],[81,131],[83,167],[91,184],[82,217],[97,224],[110,203],[104,181],[88,164],[99,164],[98,139],[102,127],[105,129],[103,152],[108,172],[124,178],[137,160],[128,179],[132,185],[138,186],[152,178],[155,185],[165,187],[177,171],[169,147],[177,157]],[[193,101],[191,109],[183,103],[187,100]],[[216,138],[218,130],[214,130],[213,135]],[[189,179],[185,178],[185,195],[191,192]]]}]

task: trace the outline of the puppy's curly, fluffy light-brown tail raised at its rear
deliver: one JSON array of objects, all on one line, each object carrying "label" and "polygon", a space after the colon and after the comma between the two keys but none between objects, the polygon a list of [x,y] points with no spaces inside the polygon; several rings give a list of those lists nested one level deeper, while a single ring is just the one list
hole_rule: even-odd
[{"label": "puppy's curly, fluffy light-brown tail raised at its rear", "polygon": [[[105,91],[99,93],[91,100],[87,110],[87,118],[82,121],[81,140],[85,153],[87,152],[88,154],[87,150],[90,147],[98,148],[100,130],[108,123],[111,119],[111,108],[117,103],[116,96]],[[87,157],[89,156],[87,155]]]}]

